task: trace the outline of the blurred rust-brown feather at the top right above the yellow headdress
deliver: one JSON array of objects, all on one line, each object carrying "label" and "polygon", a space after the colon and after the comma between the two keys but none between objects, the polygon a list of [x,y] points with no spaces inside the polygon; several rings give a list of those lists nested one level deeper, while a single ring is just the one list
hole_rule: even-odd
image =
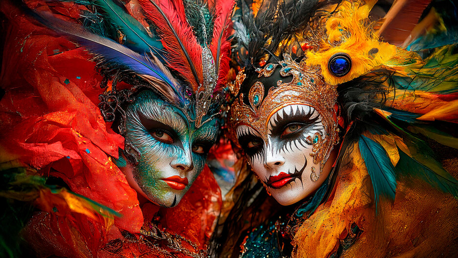
[{"label": "blurred rust-brown feather at the top right above the yellow headdress", "polygon": [[385,22],[378,31],[390,44],[402,46],[418,23],[431,0],[397,0],[385,16]]}]

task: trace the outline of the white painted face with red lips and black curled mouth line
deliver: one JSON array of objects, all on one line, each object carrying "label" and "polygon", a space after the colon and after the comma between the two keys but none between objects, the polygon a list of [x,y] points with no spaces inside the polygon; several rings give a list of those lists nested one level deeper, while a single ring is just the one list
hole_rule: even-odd
[{"label": "white painted face with red lips and black curled mouth line", "polygon": [[[294,204],[318,189],[329,174],[320,174],[313,163],[312,142],[316,133],[325,138],[321,116],[305,104],[287,105],[271,114],[266,123],[267,141],[250,125],[236,128],[237,139],[248,156],[253,171],[281,205]],[[312,181],[314,175],[318,180]],[[316,178],[315,178],[316,179]]]}]

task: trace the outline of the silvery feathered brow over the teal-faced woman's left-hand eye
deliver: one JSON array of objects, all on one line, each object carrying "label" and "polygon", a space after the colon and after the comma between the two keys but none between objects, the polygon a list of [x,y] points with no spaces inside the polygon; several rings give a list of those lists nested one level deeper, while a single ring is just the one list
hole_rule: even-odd
[{"label": "silvery feathered brow over the teal-faced woman's left-hand eye", "polygon": [[156,101],[149,99],[137,105],[135,109],[139,116],[168,125],[177,133],[184,134],[186,132],[187,125],[181,114],[177,113],[167,104],[159,104]]}]

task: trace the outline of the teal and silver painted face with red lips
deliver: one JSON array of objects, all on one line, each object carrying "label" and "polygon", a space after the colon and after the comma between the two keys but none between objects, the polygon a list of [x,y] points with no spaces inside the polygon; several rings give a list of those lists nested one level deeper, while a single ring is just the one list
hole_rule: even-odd
[{"label": "teal and silver painted face with red lips", "polygon": [[120,168],[148,200],[174,207],[202,172],[217,133],[216,118],[196,128],[182,110],[143,91],[126,108],[125,137],[139,153],[138,164]]}]

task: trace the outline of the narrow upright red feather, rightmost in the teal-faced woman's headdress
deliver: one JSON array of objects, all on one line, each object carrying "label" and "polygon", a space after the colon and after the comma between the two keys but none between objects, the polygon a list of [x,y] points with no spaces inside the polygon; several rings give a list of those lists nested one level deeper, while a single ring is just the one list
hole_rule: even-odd
[{"label": "narrow upright red feather, rightmost in the teal-faced woman's headdress", "polygon": [[[215,4],[216,18],[213,28],[213,38],[209,48],[219,66],[217,67],[218,81],[215,88],[215,91],[217,91],[226,84],[226,75],[229,71],[230,41],[228,41],[228,37],[230,35],[231,11],[235,3],[233,0],[220,0],[213,4]],[[221,42],[219,43],[220,40]],[[219,56],[218,47],[220,47]]]}]

